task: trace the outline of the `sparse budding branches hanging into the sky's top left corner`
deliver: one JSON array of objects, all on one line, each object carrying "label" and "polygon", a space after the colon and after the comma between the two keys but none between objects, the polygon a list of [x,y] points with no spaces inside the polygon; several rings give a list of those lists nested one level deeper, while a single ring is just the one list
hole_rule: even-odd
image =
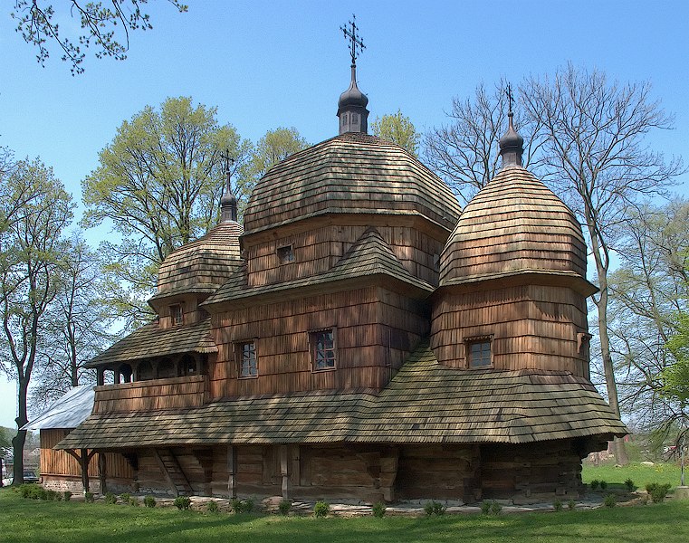
[{"label": "sparse budding branches hanging into the sky's top left corner", "polygon": [[[187,5],[179,0],[167,0],[179,13],[187,11]],[[129,51],[129,31],[146,31],[153,28],[150,16],[141,11],[148,0],[111,0],[112,6],[102,2],[62,1],[62,12],[55,14],[53,4],[42,0],[14,0],[12,17],[17,22],[16,31],[22,34],[24,42],[38,47],[36,60],[45,65],[50,57],[48,43],[57,43],[62,49],[62,61],[72,64],[72,75],[83,72],[82,62],[86,57],[83,49],[95,45],[96,58],[112,57],[123,61]],[[64,37],[55,18],[68,13],[78,16],[81,33],[76,37]],[[124,33],[120,32],[120,28]]]}]

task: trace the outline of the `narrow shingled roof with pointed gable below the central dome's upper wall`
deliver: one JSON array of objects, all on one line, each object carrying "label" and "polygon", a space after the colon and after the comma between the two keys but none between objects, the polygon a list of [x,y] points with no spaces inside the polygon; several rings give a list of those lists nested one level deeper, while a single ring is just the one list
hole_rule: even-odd
[{"label": "narrow shingled roof with pointed gable below the central dome's upper wall", "polygon": [[239,300],[271,292],[301,292],[302,289],[308,287],[375,275],[385,275],[393,280],[406,283],[419,291],[424,291],[426,294],[434,291],[433,285],[409,273],[402,262],[399,262],[395,253],[392,252],[388,243],[378,233],[378,230],[369,227],[329,271],[293,281],[250,287],[246,281],[246,267],[243,266],[237,268],[225,285],[206,300],[204,305]]}]

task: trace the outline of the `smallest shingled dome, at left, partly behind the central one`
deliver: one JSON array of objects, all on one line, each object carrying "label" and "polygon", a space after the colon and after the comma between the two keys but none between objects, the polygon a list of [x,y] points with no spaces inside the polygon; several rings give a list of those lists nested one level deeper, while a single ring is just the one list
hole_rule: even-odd
[{"label": "smallest shingled dome, at left, partly behind the central one", "polygon": [[170,252],[158,271],[158,293],[149,303],[180,294],[210,295],[242,263],[239,236],[244,229],[236,221],[217,224],[206,235]]}]

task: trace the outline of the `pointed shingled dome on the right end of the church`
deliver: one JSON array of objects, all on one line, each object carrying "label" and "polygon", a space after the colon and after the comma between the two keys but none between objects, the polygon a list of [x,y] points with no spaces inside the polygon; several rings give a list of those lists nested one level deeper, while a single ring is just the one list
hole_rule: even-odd
[{"label": "pointed shingled dome on the right end of the church", "polygon": [[534,271],[586,277],[575,215],[529,171],[510,166],[464,208],[440,255],[441,286]]}]

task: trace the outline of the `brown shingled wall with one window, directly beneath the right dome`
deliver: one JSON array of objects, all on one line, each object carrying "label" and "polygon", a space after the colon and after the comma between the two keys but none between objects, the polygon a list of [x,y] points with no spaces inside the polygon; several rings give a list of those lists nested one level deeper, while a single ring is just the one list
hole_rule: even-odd
[{"label": "brown shingled wall with one window, directly beneath the right dome", "polygon": [[589,378],[587,333],[586,300],[566,287],[448,289],[434,302],[431,347],[440,363],[467,367],[467,338],[492,336],[493,367],[566,370]]}]

